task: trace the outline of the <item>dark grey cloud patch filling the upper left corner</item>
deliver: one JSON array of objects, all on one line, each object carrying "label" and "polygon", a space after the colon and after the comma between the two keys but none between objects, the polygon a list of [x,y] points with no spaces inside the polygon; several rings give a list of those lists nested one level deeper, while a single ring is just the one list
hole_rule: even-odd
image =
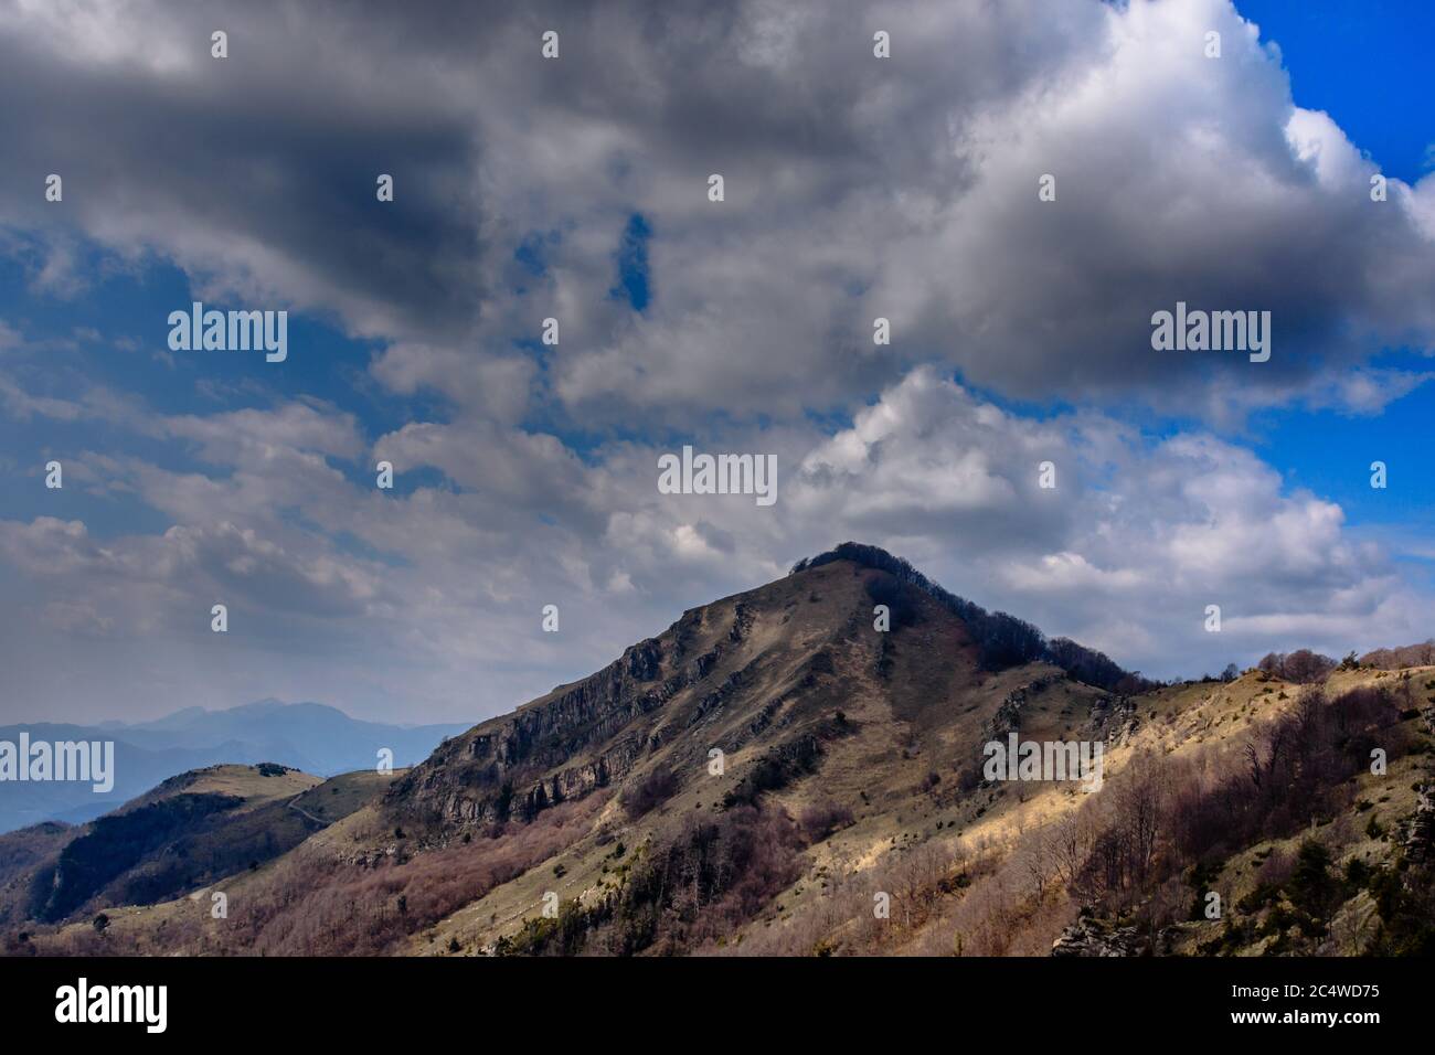
[{"label": "dark grey cloud patch filling the upper left corner", "polygon": [[[353,332],[459,333],[478,314],[476,144],[461,99],[360,11],[67,4],[0,17],[0,221],[43,254],[95,238],[215,296]],[[210,56],[225,29],[230,57]],[[367,30],[366,30],[367,33]],[[102,37],[102,39],[98,39]],[[65,201],[43,200],[44,178]],[[376,178],[395,175],[395,202]],[[33,254],[32,254],[33,255]],[[158,330],[156,324],[156,330]]]}]

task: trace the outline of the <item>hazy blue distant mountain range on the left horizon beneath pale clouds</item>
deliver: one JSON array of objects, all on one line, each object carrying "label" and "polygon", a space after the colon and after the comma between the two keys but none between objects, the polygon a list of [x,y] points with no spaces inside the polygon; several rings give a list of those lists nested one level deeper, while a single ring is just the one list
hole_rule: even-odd
[{"label": "hazy blue distant mountain range on the left horizon beneath pale clouds", "polygon": [[166,777],[221,762],[277,762],[330,777],[377,765],[380,748],[393,751],[393,765],[428,758],[445,736],[466,725],[400,726],[360,722],[323,703],[276,699],[228,711],[185,708],[151,722],[67,725],[34,722],[0,726],[0,741],[113,741],[115,787],[98,794],[83,782],[0,781],[0,831],[40,821],[80,824],[113,810]]}]

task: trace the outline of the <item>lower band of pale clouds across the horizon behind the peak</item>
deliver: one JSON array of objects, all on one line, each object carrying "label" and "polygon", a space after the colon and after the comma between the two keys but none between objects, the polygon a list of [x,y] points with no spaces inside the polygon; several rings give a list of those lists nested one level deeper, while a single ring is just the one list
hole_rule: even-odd
[{"label": "lower band of pale clouds across the horizon behind the peak", "polygon": [[[243,442],[207,455],[228,452],[227,474],[102,465],[175,518],[159,535],[0,521],[3,566],[34,586],[16,610],[172,649],[199,647],[222,601],[225,647],[235,663],[250,657],[247,670],[369,712],[408,699],[452,718],[596,669],[682,610],[842,538],[885,545],[963,596],[1155,676],[1269,649],[1415,640],[1428,610],[1339,505],[1292,491],[1243,446],[1203,431],[1152,436],[1091,411],[1023,418],[933,367],[847,428],[733,429],[718,449],[776,455],[773,507],[659,494],[660,445],[613,442],[580,462],[551,435],[438,423],[375,451],[400,475],[438,469],[445,482],[379,492],[342,471],[343,415],[321,426],[316,413],[294,403],[158,419],[201,441],[215,429],[267,436],[263,466],[245,468]],[[540,627],[550,603],[560,634]],[[1208,604],[1223,609],[1220,634],[1205,632]],[[37,633],[17,629],[7,647],[36,649]],[[86,650],[75,679],[105,656]]]}]

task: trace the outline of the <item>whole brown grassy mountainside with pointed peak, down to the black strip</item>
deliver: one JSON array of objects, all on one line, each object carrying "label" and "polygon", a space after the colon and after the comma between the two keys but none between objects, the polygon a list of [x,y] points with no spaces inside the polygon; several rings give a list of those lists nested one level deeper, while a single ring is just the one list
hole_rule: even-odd
[{"label": "whole brown grassy mountainside with pointed peak, down to the black strip", "polygon": [[[854,547],[684,613],[392,784],[278,804],[313,831],[207,876],[225,919],[154,899],[29,947],[1419,952],[1432,700],[1435,667],[1141,685]],[[1099,742],[1101,791],[986,779],[983,745],[1013,732]]]}]

